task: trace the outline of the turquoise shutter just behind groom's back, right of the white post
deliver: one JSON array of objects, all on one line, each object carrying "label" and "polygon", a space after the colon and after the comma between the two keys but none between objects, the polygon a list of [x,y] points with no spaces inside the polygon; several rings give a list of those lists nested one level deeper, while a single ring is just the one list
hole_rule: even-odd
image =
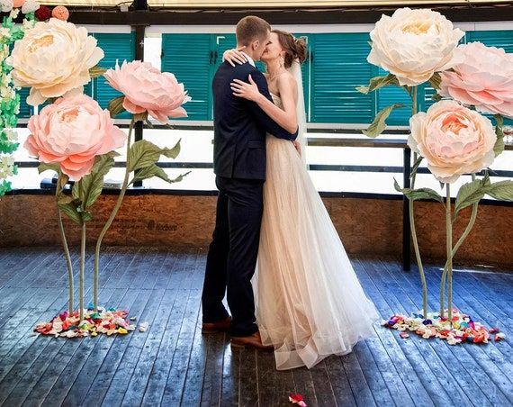
[{"label": "turquoise shutter just behind groom's back, right of the white post", "polygon": [[162,35],[162,71],[175,74],[192,97],[184,105],[189,120],[211,119],[213,58],[211,34]]}]

